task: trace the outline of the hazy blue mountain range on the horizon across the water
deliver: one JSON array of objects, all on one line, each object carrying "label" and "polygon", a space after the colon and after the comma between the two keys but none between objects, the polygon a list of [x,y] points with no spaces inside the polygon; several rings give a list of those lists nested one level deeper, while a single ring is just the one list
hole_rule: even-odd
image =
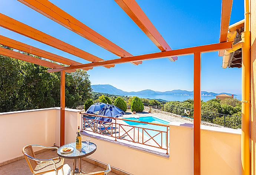
[{"label": "hazy blue mountain range on the horizon across the water", "polygon": [[[192,96],[193,91],[187,91],[187,90],[171,90],[171,91],[154,91],[150,89],[141,90],[138,92],[125,92],[121,89],[117,89],[116,87],[112,85],[91,85],[93,92],[101,92],[101,93],[108,93],[113,95],[122,95],[122,96],[135,96],[135,95],[186,95],[186,96]],[[230,93],[223,92],[224,94],[231,95]],[[202,96],[216,96],[223,93],[214,93],[214,92],[206,92],[201,91]],[[234,95],[236,96],[236,95]]]}]

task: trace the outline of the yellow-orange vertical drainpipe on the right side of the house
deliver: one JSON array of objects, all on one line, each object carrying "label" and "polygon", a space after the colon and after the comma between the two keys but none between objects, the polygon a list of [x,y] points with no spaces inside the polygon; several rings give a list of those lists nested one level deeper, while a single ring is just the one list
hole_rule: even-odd
[{"label": "yellow-orange vertical drainpipe on the right side of the house", "polygon": [[244,32],[242,33],[242,175],[250,175],[250,12],[244,0]]}]

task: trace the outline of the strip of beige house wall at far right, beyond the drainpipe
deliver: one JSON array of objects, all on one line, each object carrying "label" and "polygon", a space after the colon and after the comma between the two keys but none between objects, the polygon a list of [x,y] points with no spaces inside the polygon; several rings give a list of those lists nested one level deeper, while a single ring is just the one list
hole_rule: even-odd
[{"label": "strip of beige house wall at far right, beyond the drainpipe", "polygon": [[256,175],[256,0],[250,1],[251,29],[251,174]]}]

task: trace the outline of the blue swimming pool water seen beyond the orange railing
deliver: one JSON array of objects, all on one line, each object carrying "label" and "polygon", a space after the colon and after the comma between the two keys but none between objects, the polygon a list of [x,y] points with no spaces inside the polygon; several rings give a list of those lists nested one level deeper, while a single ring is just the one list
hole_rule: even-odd
[{"label": "blue swimming pool water seen beyond the orange railing", "polygon": [[[152,116],[140,117],[139,119],[135,119],[133,117],[124,118],[124,119],[142,121],[142,122],[158,123],[158,124],[163,124],[163,125],[167,125],[169,123],[167,121],[164,121],[164,120],[152,117]],[[139,129],[140,134],[142,133],[142,128],[145,128],[146,129],[145,131],[147,131],[151,137],[158,134],[159,132],[157,132],[157,131],[166,131],[167,130],[166,126],[151,125],[151,124],[146,124],[146,123],[137,123],[137,122],[131,122],[131,121],[125,121],[125,120],[124,120],[124,122],[126,122],[128,125],[131,125],[131,126],[140,127],[140,128],[135,128],[137,131]],[[157,131],[152,131],[149,129],[154,129]],[[149,135],[145,131],[144,131],[144,142],[147,141],[148,137],[149,137]],[[154,139],[161,146],[161,133],[158,134],[157,136],[155,136]],[[162,140],[163,140],[163,143],[162,143],[163,146],[166,145],[166,134],[165,133],[162,134]],[[150,141],[154,142],[152,139]],[[169,136],[168,136],[168,143],[169,143]],[[149,144],[149,142],[147,142],[147,144]]]}]

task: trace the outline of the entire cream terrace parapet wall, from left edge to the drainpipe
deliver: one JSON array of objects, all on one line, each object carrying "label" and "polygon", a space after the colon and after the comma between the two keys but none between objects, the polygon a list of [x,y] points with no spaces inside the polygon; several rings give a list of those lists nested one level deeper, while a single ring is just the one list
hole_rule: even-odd
[{"label": "entire cream terrace parapet wall, from left edge to the drainpipe", "polygon": [[[65,143],[75,141],[79,112],[66,109]],[[59,108],[0,113],[0,162],[22,156],[28,144],[59,145],[59,120]],[[193,174],[193,124],[171,122],[169,136],[169,158],[95,138],[97,151],[90,157],[134,175]],[[240,175],[240,139],[240,130],[201,126],[202,175]]]}]

